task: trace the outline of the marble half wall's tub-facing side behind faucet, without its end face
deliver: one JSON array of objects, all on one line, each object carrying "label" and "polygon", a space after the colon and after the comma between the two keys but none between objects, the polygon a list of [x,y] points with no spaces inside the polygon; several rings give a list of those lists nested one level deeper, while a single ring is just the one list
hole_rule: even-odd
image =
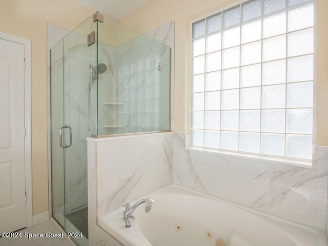
[{"label": "marble half wall's tub-facing side behind faucet, without its end face", "polygon": [[172,183],[173,134],[97,142],[98,217]]}]

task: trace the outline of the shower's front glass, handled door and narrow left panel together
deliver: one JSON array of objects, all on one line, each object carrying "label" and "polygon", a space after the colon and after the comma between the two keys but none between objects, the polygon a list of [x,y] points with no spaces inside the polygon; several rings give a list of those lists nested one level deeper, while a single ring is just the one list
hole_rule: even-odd
[{"label": "shower's front glass, handled door and narrow left panel together", "polygon": [[91,136],[91,18],[51,49],[52,214],[88,245],[87,140]]}]

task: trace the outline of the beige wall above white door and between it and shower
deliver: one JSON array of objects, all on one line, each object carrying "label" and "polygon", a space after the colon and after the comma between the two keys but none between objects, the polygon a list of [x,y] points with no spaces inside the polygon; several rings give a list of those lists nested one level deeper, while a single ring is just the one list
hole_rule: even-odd
[{"label": "beige wall above white door and between it and shower", "polygon": [[74,29],[94,13],[73,0],[0,0],[0,32],[31,40],[33,215],[48,211],[47,22]]}]

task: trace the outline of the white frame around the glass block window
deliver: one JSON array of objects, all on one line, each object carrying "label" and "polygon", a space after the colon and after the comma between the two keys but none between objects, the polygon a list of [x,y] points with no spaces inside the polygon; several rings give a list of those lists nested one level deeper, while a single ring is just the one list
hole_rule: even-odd
[{"label": "white frame around the glass block window", "polygon": [[[210,153],[210,154],[219,154],[222,156],[228,156],[228,157],[238,157],[238,158],[245,158],[245,159],[251,159],[256,161],[264,161],[264,162],[270,162],[270,163],[278,163],[283,165],[290,165],[290,166],[296,166],[296,167],[304,167],[304,168],[311,168],[314,165],[314,146],[316,145],[316,131],[317,131],[317,110],[316,110],[316,102],[317,102],[317,0],[310,0],[306,1],[307,3],[313,3],[314,8],[314,24],[313,24],[313,41],[314,41],[314,49],[313,49],[313,122],[312,122],[312,159],[311,160],[305,160],[300,158],[294,158],[294,157],[288,157],[288,156],[275,156],[275,155],[267,155],[267,154],[261,154],[261,153],[250,153],[250,152],[242,152],[242,151],[233,151],[233,150],[224,150],[224,149],[214,149],[209,147],[197,147],[191,145],[191,129],[192,129],[192,78],[193,78],[193,23],[198,22],[199,20],[202,20],[204,18],[208,18],[212,15],[215,15],[219,12],[223,13],[224,10],[228,10],[230,8],[233,8],[237,5],[241,6],[241,4],[248,2],[249,0],[242,0],[242,1],[235,1],[232,4],[222,6],[219,9],[213,10],[211,12],[203,13],[197,18],[194,18],[190,20],[189,24],[189,68],[188,68],[188,85],[189,85],[189,100],[188,100],[188,135],[186,135],[185,138],[185,149],[190,151],[197,151],[197,152],[203,152],[203,153]],[[287,2],[288,0],[286,0]],[[288,16],[288,14],[287,14]],[[262,19],[263,24],[263,14],[261,13],[261,16],[259,17]],[[287,17],[288,18],[288,17]],[[241,23],[240,23],[241,25]],[[222,29],[221,29],[222,30]],[[303,30],[303,29],[300,29]],[[293,31],[294,32],[294,31]],[[289,32],[286,32],[284,35],[288,35]],[[207,34],[206,34],[207,35]],[[206,36],[205,35],[205,36]],[[221,33],[222,35],[222,33]],[[282,34],[283,35],[283,34]],[[204,37],[205,37],[204,36]],[[277,35],[274,35],[273,37],[276,37]],[[270,37],[269,37],[270,38]],[[261,37],[261,42],[263,38]],[[254,41],[253,41],[254,42]],[[252,42],[251,42],[252,43]],[[249,44],[249,43],[245,43]],[[239,46],[242,44],[240,43]],[[235,46],[233,46],[235,47]],[[226,48],[229,49],[229,48]],[[222,51],[222,47],[220,49]],[[204,55],[206,55],[206,51]],[[262,54],[261,54],[262,55]],[[303,55],[302,55],[303,56]],[[292,56],[294,57],[294,56]],[[284,59],[287,60],[289,57],[286,56]],[[261,65],[264,62],[261,59]],[[239,67],[240,68],[240,64]],[[221,70],[222,71],[222,67]],[[206,71],[204,72],[206,74]],[[303,81],[302,81],[303,82]],[[262,86],[262,85],[261,85]],[[238,89],[241,87],[239,86]],[[221,89],[220,89],[221,90]],[[205,91],[203,91],[204,93]],[[262,95],[262,92],[261,92]],[[239,96],[240,97],[240,96]],[[286,110],[286,108],[284,108]],[[200,111],[201,112],[201,111]],[[204,110],[202,112],[205,112]],[[240,114],[240,108],[238,109],[238,112]],[[220,130],[221,131],[221,126]],[[239,134],[239,129],[238,129]],[[286,132],[284,133],[286,135]],[[239,138],[239,137],[238,137]],[[286,146],[284,147],[286,148]]]}]

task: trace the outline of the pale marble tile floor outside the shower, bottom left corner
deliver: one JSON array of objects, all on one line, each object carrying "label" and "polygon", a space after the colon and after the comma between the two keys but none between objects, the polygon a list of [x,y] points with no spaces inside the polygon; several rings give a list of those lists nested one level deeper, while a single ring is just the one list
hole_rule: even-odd
[{"label": "pale marble tile floor outside the shower, bottom left corner", "polygon": [[22,229],[18,232],[22,232],[21,238],[3,238],[0,237],[0,246],[70,246],[65,238],[25,238],[24,233],[60,233],[54,224],[48,220],[43,223],[36,224],[33,227]]}]

